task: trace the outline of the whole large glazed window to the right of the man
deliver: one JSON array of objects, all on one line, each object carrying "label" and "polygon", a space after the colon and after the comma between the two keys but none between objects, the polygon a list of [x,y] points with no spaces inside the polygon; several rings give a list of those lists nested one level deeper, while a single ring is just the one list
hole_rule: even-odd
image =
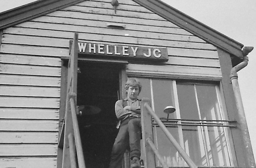
[{"label": "whole large glazed window to the right of the man", "polygon": [[[140,97],[151,106],[180,146],[197,166],[233,166],[228,137],[229,124],[218,84],[140,78]],[[164,108],[176,111],[168,116]],[[154,142],[168,166],[188,166],[153,122]],[[143,157],[142,157],[143,159]],[[161,164],[156,160],[157,166]]]}]

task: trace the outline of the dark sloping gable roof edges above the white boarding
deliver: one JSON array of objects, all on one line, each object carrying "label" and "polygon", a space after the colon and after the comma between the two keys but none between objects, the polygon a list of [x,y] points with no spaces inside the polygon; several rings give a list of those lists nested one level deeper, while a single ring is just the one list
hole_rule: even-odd
[{"label": "dark sloping gable roof edges above the white boarding", "polygon": [[[86,0],[39,0],[0,13],[0,30]],[[223,35],[160,0],[132,0],[155,14],[237,57],[243,44]]]}]

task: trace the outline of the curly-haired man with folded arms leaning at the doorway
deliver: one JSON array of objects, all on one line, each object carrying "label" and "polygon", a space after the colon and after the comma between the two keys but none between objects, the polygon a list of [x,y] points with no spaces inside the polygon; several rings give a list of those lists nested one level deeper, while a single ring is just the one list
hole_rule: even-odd
[{"label": "curly-haired man with folded arms leaning at the doorway", "polygon": [[130,147],[131,168],[140,168],[141,156],[141,110],[137,99],[141,84],[136,78],[129,78],[125,85],[127,97],[115,103],[115,113],[119,120],[119,132],[113,145],[109,168],[120,168],[124,152]]}]

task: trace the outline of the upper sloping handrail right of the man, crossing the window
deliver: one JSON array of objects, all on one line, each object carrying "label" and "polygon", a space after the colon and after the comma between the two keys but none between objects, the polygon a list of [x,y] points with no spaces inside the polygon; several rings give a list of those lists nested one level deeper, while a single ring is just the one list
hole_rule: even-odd
[{"label": "upper sloping handrail right of the man, crossing the window", "polygon": [[198,168],[197,165],[189,158],[186,151],[179,145],[179,143],[174,139],[172,134],[167,130],[163,122],[159,119],[159,117],[155,114],[153,109],[147,104],[144,104],[144,107],[148,110],[149,114],[155,119],[159,127],[163,130],[165,135],[168,137],[168,139],[172,142],[174,147],[177,149],[177,151],[180,153],[180,155],[183,157],[183,159],[186,161],[186,163],[189,165],[190,168]]}]

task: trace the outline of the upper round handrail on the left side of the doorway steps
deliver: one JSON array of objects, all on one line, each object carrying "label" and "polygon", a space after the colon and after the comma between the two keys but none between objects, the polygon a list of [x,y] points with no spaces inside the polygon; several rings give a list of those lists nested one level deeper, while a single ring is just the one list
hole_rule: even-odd
[{"label": "upper round handrail on the left side of the doorway steps", "polygon": [[82,142],[81,142],[79,127],[78,127],[78,122],[77,122],[76,105],[75,105],[74,96],[72,96],[69,99],[69,102],[70,102],[75,144],[76,144],[76,150],[77,150],[78,167],[85,168],[83,148],[82,148]]}]

